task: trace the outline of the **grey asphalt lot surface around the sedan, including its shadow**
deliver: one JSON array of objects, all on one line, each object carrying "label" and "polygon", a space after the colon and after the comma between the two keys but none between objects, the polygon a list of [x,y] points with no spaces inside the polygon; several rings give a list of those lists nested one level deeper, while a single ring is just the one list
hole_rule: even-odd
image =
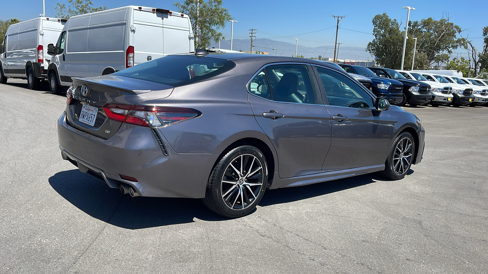
[{"label": "grey asphalt lot surface around the sedan, including its shadow", "polygon": [[427,134],[403,180],[270,190],[225,219],[81,174],[58,148],[65,97],[26,87],[0,84],[0,273],[488,272],[487,107],[405,107]]}]

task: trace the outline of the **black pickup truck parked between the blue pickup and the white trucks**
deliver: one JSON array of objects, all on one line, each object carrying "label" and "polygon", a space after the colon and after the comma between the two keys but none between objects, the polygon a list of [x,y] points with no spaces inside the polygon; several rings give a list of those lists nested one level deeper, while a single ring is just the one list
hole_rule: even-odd
[{"label": "black pickup truck parked between the blue pickup and the white trucks", "polygon": [[432,100],[430,86],[424,82],[408,80],[398,71],[387,68],[368,67],[377,76],[382,78],[395,79],[403,84],[403,99],[397,106],[408,103],[410,106],[427,105]]}]

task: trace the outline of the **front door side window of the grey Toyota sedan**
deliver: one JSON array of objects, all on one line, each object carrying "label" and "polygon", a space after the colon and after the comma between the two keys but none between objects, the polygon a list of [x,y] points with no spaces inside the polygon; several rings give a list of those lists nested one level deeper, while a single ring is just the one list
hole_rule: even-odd
[{"label": "front door side window of the grey Toyota sedan", "polygon": [[353,80],[322,67],[317,67],[317,72],[329,105],[362,109],[369,109],[374,105],[373,98]]}]

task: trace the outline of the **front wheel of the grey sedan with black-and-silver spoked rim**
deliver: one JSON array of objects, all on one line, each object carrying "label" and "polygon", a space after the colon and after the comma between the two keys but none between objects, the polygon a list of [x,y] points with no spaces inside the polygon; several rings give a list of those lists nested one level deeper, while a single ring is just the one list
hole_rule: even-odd
[{"label": "front wheel of the grey sedan with black-and-silver spoked rim", "polygon": [[410,133],[404,132],[396,137],[386,158],[383,176],[390,180],[400,180],[407,175],[415,156],[415,142]]}]

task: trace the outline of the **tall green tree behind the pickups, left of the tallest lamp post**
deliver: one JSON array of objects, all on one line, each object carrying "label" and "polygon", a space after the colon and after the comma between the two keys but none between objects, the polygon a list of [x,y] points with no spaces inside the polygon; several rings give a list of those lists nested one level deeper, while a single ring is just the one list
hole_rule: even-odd
[{"label": "tall green tree behind the pickups, left of the tallest lamp post", "polygon": [[[374,55],[376,63],[387,68],[399,69],[402,63],[402,49],[404,32],[396,19],[391,19],[386,13],[373,18],[374,39],[366,46],[366,51]],[[407,39],[406,55],[413,55],[413,39]],[[406,58],[407,59],[407,58]],[[410,63],[411,63],[410,57]],[[408,62],[405,62],[408,67]]]}]

